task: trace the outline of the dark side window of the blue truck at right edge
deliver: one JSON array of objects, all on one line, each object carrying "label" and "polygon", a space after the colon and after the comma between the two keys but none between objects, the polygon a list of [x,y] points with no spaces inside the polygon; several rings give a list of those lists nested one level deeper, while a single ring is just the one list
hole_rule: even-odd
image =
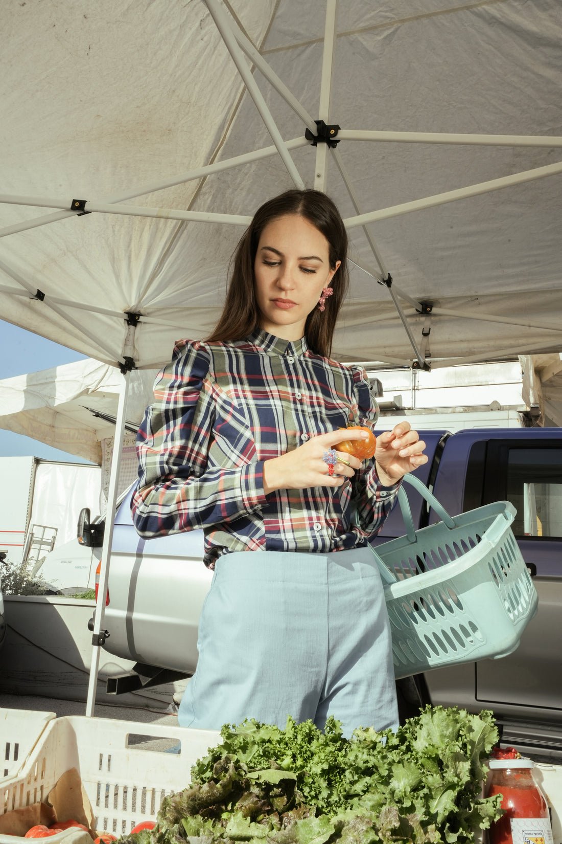
[{"label": "dark side window of the blue truck at right edge", "polygon": [[562,537],[562,449],[511,448],[507,500],[517,508],[516,536]]}]

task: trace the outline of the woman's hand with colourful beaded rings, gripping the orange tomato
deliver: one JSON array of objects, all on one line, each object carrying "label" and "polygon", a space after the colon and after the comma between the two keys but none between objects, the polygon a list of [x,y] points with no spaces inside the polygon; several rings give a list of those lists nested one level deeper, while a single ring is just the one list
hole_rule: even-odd
[{"label": "woman's hand with colourful beaded rings, gripping the orange tomato", "polygon": [[[312,486],[342,486],[345,480],[353,478],[355,469],[361,467],[361,460],[351,454],[338,452],[340,458],[335,464],[334,474],[328,474],[328,464],[324,461],[324,452],[334,448],[344,440],[367,438],[364,430],[331,430],[329,434],[313,436],[302,446],[281,457],[271,457],[264,463],[264,492],[269,495],[274,490],[306,490]],[[345,460],[345,463],[341,463]]]}]

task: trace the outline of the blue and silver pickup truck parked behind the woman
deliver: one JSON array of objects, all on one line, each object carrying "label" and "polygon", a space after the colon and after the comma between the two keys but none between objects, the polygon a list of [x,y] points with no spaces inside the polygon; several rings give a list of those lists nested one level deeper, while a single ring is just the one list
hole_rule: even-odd
[{"label": "blue and silver pickup truck parked behind the woman", "polygon": [[[513,533],[538,591],[538,614],[510,656],[484,659],[398,681],[404,714],[420,704],[492,709],[504,740],[562,760],[562,430],[486,428],[424,431],[429,462],[416,474],[457,515],[491,501],[517,509]],[[407,494],[416,527],[436,521],[419,493]],[[197,624],[211,572],[201,562],[201,531],[144,540],[131,522],[130,493],[115,521],[104,628],[105,650],[134,659],[144,676],[160,669],[191,674]],[[88,514],[86,514],[88,515]],[[90,571],[99,559],[103,524],[94,537]],[[395,507],[373,544],[406,533]],[[131,688],[131,685],[123,686]],[[528,747],[527,747],[527,744]]]}]

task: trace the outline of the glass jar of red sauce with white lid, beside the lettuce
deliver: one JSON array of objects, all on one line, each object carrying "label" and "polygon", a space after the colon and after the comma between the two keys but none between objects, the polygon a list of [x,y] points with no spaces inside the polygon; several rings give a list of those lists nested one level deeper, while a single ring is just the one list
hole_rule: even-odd
[{"label": "glass jar of red sauce with white lid, beside the lettuce", "polygon": [[549,807],[530,759],[492,759],[488,797],[501,794],[506,809],[490,826],[490,844],[553,844]]}]

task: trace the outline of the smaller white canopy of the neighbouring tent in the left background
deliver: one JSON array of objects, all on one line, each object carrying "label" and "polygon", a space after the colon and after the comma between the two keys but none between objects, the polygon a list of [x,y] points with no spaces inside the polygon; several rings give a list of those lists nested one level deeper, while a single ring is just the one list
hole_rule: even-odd
[{"label": "smaller white canopy of the neighbouring tent in the left background", "polygon": [[[140,425],[151,402],[154,371],[133,371],[129,385],[129,427]],[[0,381],[0,428],[101,465],[102,444],[115,435],[122,377],[114,366],[79,360]],[[108,419],[94,416],[104,414]]]}]

